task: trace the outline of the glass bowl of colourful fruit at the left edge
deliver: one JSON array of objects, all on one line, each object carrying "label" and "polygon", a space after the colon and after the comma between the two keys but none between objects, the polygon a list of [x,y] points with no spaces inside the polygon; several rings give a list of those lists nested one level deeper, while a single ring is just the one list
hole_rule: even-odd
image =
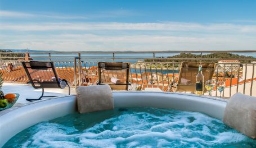
[{"label": "glass bowl of colourful fruit at the left edge", "polygon": [[19,94],[6,94],[3,99],[0,99],[0,111],[11,108],[19,99]]}]

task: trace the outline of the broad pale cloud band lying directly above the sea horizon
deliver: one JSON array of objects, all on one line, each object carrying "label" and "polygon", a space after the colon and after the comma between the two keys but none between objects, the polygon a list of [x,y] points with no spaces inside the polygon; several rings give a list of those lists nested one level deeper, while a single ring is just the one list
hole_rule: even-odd
[{"label": "broad pale cloud band lying directly above the sea horizon", "polygon": [[[0,39],[10,36],[0,36]],[[39,50],[253,50],[255,37],[233,35],[174,36],[174,35],[94,35],[51,34],[16,35],[2,41],[3,48]]]}]

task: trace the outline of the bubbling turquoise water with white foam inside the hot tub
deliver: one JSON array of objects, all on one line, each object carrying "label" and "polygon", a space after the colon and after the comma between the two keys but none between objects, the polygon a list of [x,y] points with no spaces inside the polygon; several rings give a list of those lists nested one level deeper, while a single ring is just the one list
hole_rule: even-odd
[{"label": "bubbling turquoise water with white foam inside the hot tub", "polygon": [[4,147],[256,147],[256,140],[201,113],[119,108],[38,123]]}]

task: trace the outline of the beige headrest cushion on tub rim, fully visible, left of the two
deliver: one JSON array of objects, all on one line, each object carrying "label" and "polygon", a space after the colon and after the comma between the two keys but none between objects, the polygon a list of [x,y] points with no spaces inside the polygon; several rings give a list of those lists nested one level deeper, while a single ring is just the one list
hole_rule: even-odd
[{"label": "beige headrest cushion on tub rim, fully visible, left of the two", "polygon": [[77,88],[77,104],[79,113],[113,109],[114,100],[110,86],[79,86]]}]

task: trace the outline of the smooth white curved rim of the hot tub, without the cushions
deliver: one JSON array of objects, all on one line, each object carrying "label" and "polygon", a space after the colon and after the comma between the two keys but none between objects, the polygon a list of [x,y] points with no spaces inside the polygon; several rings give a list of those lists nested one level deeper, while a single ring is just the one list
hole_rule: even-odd
[{"label": "smooth white curved rim of the hot tub, without the cushions", "polygon": [[[200,112],[222,120],[226,101],[213,97],[172,92],[113,92],[115,108],[152,107]],[[0,113],[0,147],[11,137],[39,122],[76,112],[76,96],[37,101]]]}]

